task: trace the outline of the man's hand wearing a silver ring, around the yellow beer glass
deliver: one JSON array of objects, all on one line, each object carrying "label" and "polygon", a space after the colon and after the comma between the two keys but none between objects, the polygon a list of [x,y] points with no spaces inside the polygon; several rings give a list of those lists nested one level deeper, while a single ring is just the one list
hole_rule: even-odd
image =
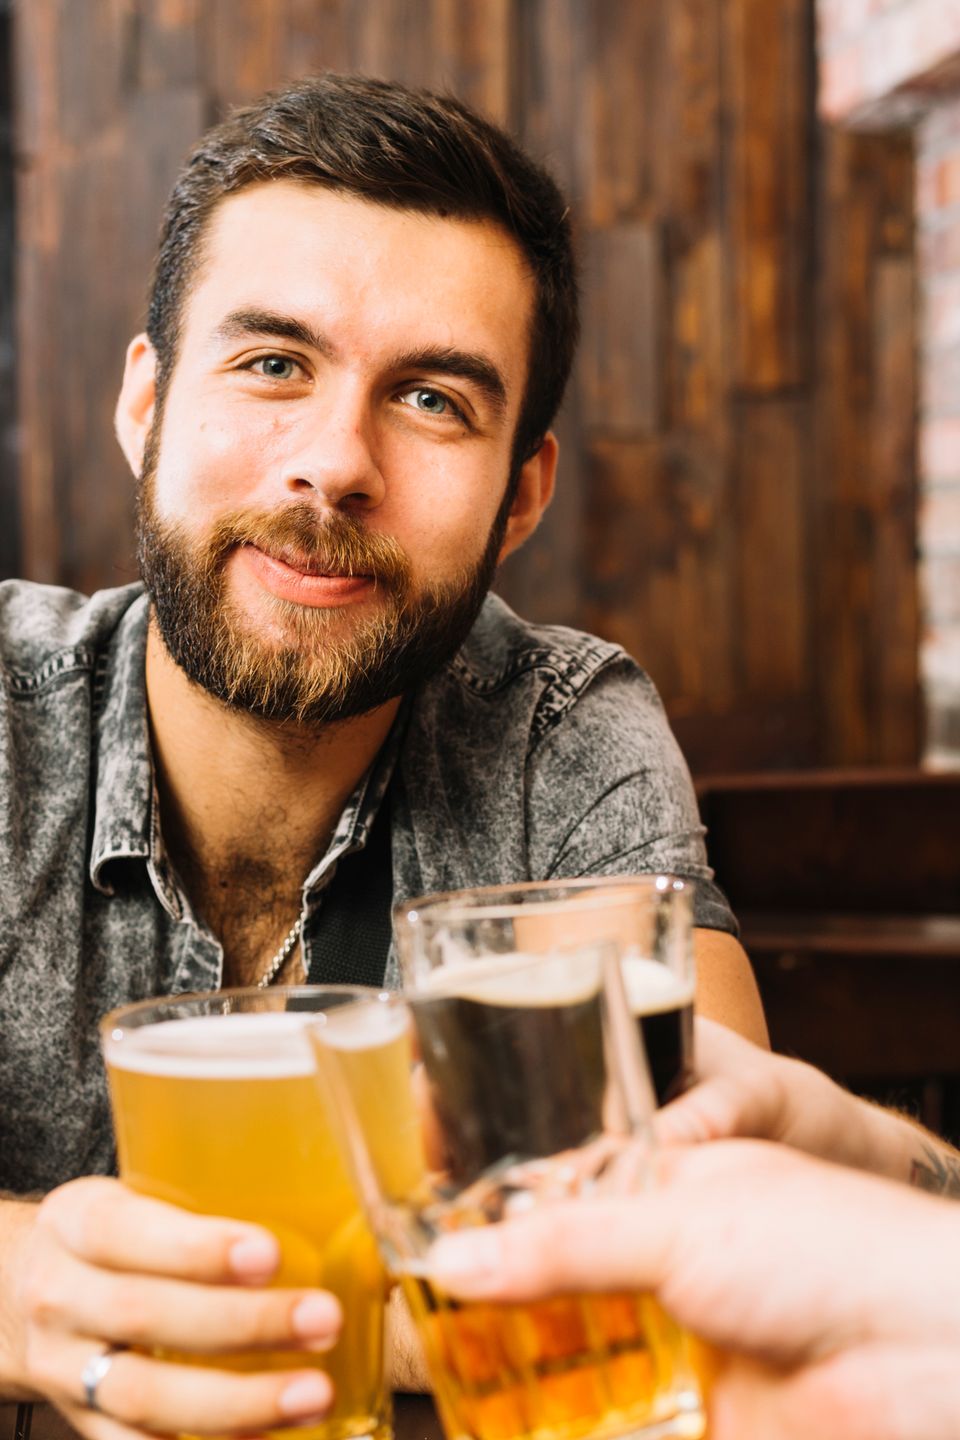
[{"label": "man's hand wearing a silver ring, around the yellow beer glass", "polygon": [[[331,1295],[265,1287],[281,1259],[269,1231],[193,1215],[114,1179],[60,1187],[19,1230],[3,1300],[9,1394],[50,1400],[91,1440],[230,1434],[327,1413],[332,1388],[317,1368],[207,1368],[217,1354],[307,1356],[337,1339]],[[83,1403],[81,1375],[108,1345],[187,1352],[206,1365],[121,1351],[98,1387],[98,1414]]]}]

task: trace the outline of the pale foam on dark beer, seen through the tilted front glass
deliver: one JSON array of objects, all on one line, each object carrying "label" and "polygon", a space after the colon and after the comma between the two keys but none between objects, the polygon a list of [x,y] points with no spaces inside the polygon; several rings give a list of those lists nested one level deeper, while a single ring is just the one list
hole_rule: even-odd
[{"label": "pale foam on dark beer, seen through the tilted front glass", "polygon": [[[438,965],[423,979],[420,995],[446,995],[484,1005],[547,1009],[580,1005],[600,991],[600,963],[583,955],[489,955]],[[416,994],[413,996],[416,999]]]}]

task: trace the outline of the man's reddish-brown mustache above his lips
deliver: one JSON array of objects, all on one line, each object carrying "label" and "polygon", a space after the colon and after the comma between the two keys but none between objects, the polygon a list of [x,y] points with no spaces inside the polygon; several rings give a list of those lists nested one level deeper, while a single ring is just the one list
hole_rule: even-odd
[{"label": "man's reddish-brown mustache above his lips", "polygon": [[266,554],[301,562],[315,573],[364,575],[384,589],[403,593],[410,585],[410,560],[391,537],[367,530],[353,516],[318,516],[299,503],[272,511],[232,511],[222,516],[209,539],[210,567],[243,544]]}]

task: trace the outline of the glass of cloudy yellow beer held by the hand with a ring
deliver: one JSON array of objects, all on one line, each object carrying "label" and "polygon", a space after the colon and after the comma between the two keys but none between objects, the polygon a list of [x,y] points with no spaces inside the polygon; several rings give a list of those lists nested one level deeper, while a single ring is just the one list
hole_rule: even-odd
[{"label": "glass of cloudy yellow beer held by the hand with a ring", "polygon": [[344,1312],[325,1354],[164,1358],[239,1371],[324,1369],[334,1404],[322,1424],[298,1427],[309,1440],[391,1433],[386,1277],[305,1038],[318,1012],[376,994],[307,985],[220,991],[127,1005],[101,1025],[124,1182],[186,1210],[265,1225],[281,1244],[273,1284],[331,1290]]}]

